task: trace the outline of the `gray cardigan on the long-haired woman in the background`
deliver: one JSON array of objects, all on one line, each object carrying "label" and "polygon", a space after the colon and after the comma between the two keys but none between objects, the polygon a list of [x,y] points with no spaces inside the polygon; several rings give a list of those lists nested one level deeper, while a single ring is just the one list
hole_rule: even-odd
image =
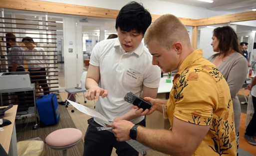
[{"label": "gray cardigan on the long-haired woman in the background", "polygon": [[[208,59],[214,61],[213,56]],[[218,70],[229,84],[231,98],[234,108],[234,118],[236,133],[240,129],[241,105],[238,99],[238,92],[245,83],[248,73],[248,63],[246,58],[238,52],[231,54],[219,67]]]}]

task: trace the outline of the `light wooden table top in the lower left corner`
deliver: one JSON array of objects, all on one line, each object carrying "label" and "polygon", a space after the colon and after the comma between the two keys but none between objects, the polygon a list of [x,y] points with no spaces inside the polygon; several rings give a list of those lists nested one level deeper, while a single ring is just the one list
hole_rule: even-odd
[{"label": "light wooden table top in the lower left corner", "polygon": [[[0,108],[3,108],[3,107],[0,107]],[[11,122],[10,125],[2,127],[3,131],[0,131],[0,144],[3,147],[3,149],[6,151],[6,153],[9,152],[10,140],[11,140],[12,130],[15,122],[17,108],[18,108],[17,105],[13,105],[12,108],[10,108],[4,113],[4,116],[0,116],[0,119],[7,119]]]}]

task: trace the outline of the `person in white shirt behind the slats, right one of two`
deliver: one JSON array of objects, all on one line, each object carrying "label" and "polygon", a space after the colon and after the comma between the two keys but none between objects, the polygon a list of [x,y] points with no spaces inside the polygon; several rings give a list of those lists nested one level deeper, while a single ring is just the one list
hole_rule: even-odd
[{"label": "person in white shirt behind the slats, right one of two", "polygon": [[[28,72],[30,73],[30,76],[41,76],[41,77],[32,77],[31,80],[37,80],[37,79],[46,79],[46,72],[48,70],[45,70],[48,57],[46,56],[47,53],[44,51],[43,48],[38,48],[34,44],[34,40],[31,37],[25,37],[22,39],[22,42],[26,46],[27,55],[32,56],[25,56],[25,59],[29,59],[27,61],[27,66],[29,68]],[[32,59],[32,60],[31,60]],[[42,60],[44,59],[44,60]],[[35,65],[39,64],[39,65]],[[35,73],[38,72],[38,73]],[[35,81],[33,81],[35,83]],[[49,94],[49,88],[47,80],[38,80],[38,85],[43,88],[44,93],[43,94]]]}]

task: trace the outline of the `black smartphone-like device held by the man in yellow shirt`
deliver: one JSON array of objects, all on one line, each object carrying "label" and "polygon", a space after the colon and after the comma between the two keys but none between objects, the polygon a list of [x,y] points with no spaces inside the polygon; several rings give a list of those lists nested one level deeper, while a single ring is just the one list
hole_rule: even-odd
[{"label": "black smartphone-like device held by the man in yellow shirt", "polygon": [[145,111],[146,109],[150,109],[152,107],[152,103],[149,101],[144,100],[143,98],[135,95],[132,92],[127,92],[127,94],[124,97],[124,100],[139,107],[142,108],[143,111]]}]

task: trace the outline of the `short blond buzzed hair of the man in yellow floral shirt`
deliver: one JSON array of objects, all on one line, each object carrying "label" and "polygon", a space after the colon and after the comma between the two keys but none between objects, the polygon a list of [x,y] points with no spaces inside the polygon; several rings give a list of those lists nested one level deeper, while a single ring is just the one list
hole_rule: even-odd
[{"label": "short blond buzzed hair of the man in yellow floral shirt", "polygon": [[186,26],[172,14],[162,15],[149,26],[144,36],[144,43],[147,45],[153,40],[167,50],[170,50],[172,44],[177,41],[186,46],[191,45]]}]

